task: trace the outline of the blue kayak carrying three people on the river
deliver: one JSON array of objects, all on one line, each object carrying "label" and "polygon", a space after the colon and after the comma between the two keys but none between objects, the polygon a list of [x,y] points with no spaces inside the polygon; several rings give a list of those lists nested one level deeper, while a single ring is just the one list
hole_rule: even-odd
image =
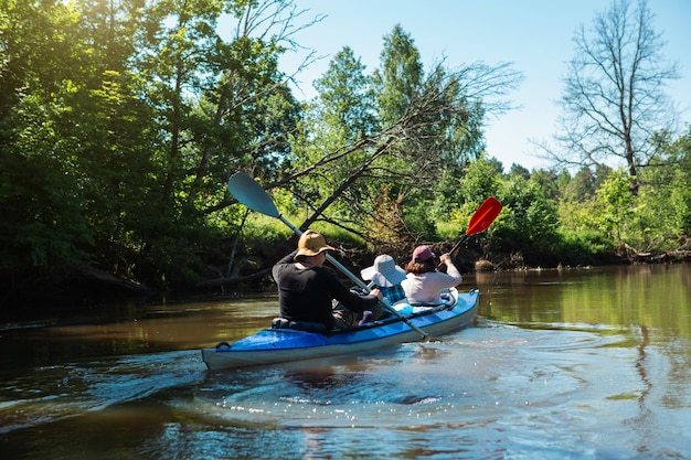
[{"label": "blue kayak carrying three people on the river", "polygon": [[[470,324],[478,309],[477,289],[459,293],[450,289],[444,303],[434,307],[393,306],[410,323],[429,335],[440,335]],[[317,357],[361,354],[422,339],[418,331],[397,315],[328,333],[294,329],[264,329],[234,343],[221,342],[203,349],[202,359],[210,370],[286,363]]]}]

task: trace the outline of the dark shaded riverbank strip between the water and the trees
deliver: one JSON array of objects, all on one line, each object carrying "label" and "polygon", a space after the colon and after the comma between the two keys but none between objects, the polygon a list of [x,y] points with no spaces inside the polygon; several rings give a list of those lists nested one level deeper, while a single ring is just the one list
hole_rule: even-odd
[{"label": "dark shaded riverbank strip between the water and the trees", "polygon": [[[439,245],[435,248],[443,252]],[[448,249],[447,249],[448,250]],[[393,253],[393,252],[392,252]],[[576,268],[583,265],[554,263],[545,259],[543,264],[532,260],[525,264],[520,254],[501,254],[491,258],[483,257],[478,247],[466,247],[455,257],[455,263],[461,272],[474,271],[511,271],[532,269],[563,269]],[[355,253],[353,253],[355,254]],[[341,258],[341,263],[354,274],[369,266],[376,256],[373,254],[357,253],[349,258]],[[395,254],[396,260],[404,260],[405,256]],[[632,250],[624,255],[607,254],[594,260],[588,266],[610,266],[627,264],[678,264],[691,261],[690,250],[666,253],[636,253]],[[255,260],[258,268],[248,274],[237,274],[231,277],[200,278],[194,285],[178,286],[160,289],[131,279],[117,277],[98,269],[63,272],[59,276],[28,276],[18,278],[4,277],[3,295],[0,297],[0,314],[18,312],[23,309],[55,312],[61,309],[68,311],[106,308],[114,302],[132,302],[138,304],[180,302],[200,299],[235,298],[270,291],[274,286],[270,280],[270,263]],[[404,265],[404,263],[400,263]],[[346,280],[347,281],[347,280]]]}]

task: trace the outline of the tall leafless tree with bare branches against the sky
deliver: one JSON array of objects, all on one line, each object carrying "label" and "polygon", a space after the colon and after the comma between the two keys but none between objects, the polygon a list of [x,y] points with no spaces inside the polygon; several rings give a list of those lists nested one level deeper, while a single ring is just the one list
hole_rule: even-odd
[{"label": "tall leafless tree with bare branches against the sky", "polygon": [[624,161],[638,192],[639,169],[656,156],[656,131],[673,130],[676,108],[662,88],[678,77],[661,54],[665,42],[652,26],[647,0],[615,0],[593,29],[576,31],[560,100],[565,153],[553,157],[578,165]]}]

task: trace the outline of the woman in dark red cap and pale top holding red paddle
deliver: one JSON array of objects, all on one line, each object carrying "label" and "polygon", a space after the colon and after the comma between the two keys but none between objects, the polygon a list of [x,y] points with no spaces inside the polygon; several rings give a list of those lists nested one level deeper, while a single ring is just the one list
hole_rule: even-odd
[{"label": "woman in dark red cap and pale top holding red paddle", "polygon": [[442,303],[442,289],[453,288],[463,281],[451,256],[442,254],[439,257],[446,265],[446,274],[437,271],[435,257],[428,246],[417,246],[413,252],[413,258],[405,266],[407,277],[401,284],[410,303]]}]

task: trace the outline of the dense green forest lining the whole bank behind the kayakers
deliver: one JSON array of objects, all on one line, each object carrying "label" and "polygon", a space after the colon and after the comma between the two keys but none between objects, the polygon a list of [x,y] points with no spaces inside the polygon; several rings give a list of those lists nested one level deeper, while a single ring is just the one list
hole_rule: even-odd
[{"label": "dense green forest lining the whole bank behind the kayakers", "polygon": [[400,25],[378,68],[343,44],[298,100],[291,82],[317,57],[279,62],[310,14],[291,0],[0,0],[0,303],[269,285],[295,238],[228,194],[236,171],[352,267],[448,250],[488,196],[503,210],[455,255],[466,270],[687,257],[691,128],[661,92],[678,71],[645,1],[576,31],[563,130],[542,146],[553,167],[532,171],[483,145],[521,73],[425,69]]}]

